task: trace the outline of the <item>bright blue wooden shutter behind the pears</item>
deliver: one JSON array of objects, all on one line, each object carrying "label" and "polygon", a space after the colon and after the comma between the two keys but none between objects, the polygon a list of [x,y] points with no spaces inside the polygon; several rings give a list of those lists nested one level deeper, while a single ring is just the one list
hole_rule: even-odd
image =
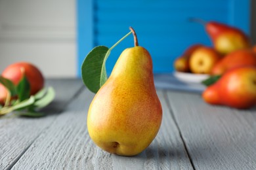
[{"label": "bright blue wooden shutter behind the pears", "polygon": [[[154,73],[170,73],[174,59],[185,48],[195,43],[211,45],[203,25],[188,22],[188,18],[215,20],[249,33],[249,6],[249,0],[77,0],[78,75],[93,46],[110,48],[129,32],[129,26],[137,32],[139,45],[150,52]],[[130,36],[112,50],[106,65],[108,73],[121,52],[132,46]]]}]

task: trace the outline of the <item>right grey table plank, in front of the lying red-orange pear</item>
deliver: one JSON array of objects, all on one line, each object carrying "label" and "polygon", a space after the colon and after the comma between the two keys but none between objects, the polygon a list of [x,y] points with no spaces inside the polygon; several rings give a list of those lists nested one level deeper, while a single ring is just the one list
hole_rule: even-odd
[{"label": "right grey table plank, in front of the lying red-orange pear", "polygon": [[256,169],[256,112],[208,105],[200,94],[168,92],[195,169]]}]

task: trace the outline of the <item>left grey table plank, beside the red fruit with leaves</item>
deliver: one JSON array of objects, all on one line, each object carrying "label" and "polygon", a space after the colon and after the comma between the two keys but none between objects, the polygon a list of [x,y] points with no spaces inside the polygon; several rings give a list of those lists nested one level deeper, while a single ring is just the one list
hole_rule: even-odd
[{"label": "left grey table plank, beside the red fruit with leaves", "polygon": [[26,152],[33,141],[49,127],[58,114],[68,105],[75,93],[81,89],[81,80],[47,80],[46,86],[53,86],[56,98],[43,112],[42,118],[9,117],[0,118],[0,169],[11,169],[12,165]]}]

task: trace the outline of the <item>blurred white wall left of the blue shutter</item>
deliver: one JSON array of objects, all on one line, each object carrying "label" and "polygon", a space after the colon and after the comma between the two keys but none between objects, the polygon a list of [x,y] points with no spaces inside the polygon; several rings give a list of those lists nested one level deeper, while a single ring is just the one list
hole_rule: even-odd
[{"label": "blurred white wall left of the blue shutter", "polygon": [[76,76],[74,0],[0,0],[0,72],[17,61],[45,77]]}]

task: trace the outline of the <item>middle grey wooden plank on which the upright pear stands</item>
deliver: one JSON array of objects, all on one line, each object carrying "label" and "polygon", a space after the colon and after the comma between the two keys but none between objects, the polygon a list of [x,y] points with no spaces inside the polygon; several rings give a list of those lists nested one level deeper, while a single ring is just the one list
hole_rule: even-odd
[{"label": "middle grey wooden plank on which the upright pear stands", "polygon": [[109,154],[87,132],[87,110],[94,94],[84,90],[68,109],[35,140],[14,169],[192,169],[170,110],[163,105],[163,123],[148,148],[134,157]]}]

